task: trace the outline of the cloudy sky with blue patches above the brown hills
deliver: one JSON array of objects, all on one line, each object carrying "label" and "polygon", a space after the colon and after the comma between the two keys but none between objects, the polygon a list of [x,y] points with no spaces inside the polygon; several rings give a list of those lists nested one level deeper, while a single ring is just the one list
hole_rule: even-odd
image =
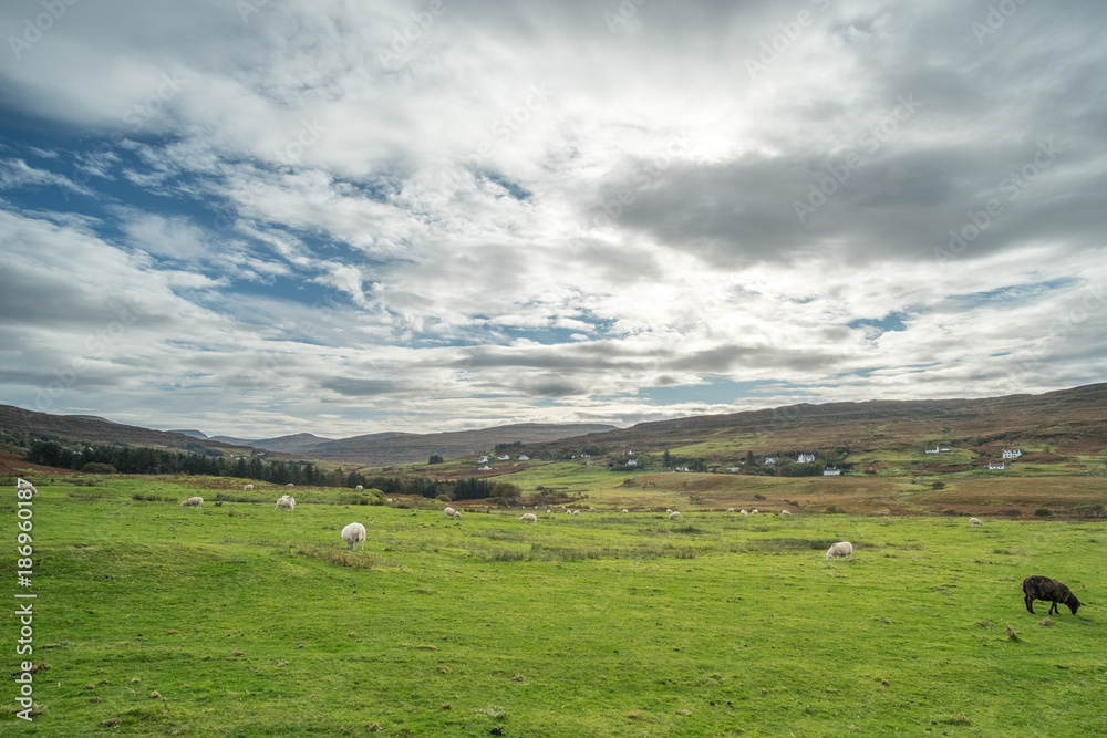
[{"label": "cloudy sky with blue patches above the brown hills", "polygon": [[0,403],[344,437],[1107,381],[1105,25],[9,0]]}]

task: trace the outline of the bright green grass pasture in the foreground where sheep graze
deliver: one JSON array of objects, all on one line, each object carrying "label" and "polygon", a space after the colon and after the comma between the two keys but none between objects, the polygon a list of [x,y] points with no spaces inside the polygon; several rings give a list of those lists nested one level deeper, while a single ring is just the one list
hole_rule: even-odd
[{"label": "bright green grass pasture in the foreground where sheep graze", "polygon": [[[682,507],[528,526],[349,490],[275,511],[276,488],[178,507],[198,490],[214,498],[204,480],[39,482],[31,658],[50,668],[31,724],[9,682],[0,735],[1107,734],[1103,522]],[[0,520],[15,672],[10,489]],[[340,540],[353,521],[364,551]],[[851,562],[824,560],[837,540]],[[1030,574],[1087,606],[1043,624]]]}]

